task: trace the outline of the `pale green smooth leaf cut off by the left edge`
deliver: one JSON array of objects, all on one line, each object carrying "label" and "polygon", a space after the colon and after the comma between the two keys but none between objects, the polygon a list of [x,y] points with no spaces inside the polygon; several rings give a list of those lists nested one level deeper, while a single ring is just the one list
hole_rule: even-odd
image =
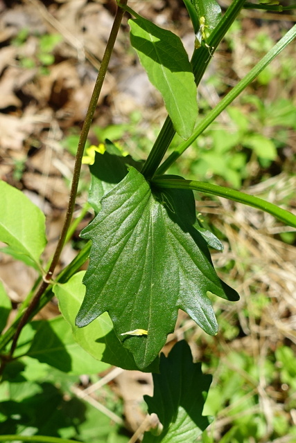
[{"label": "pale green smooth leaf cut off by the left edge", "polygon": [[0,181],[0,241],[15,251],[19,260],[27,257],[40,269],[40,255],[46,245],[45,217],[21,191]]}]

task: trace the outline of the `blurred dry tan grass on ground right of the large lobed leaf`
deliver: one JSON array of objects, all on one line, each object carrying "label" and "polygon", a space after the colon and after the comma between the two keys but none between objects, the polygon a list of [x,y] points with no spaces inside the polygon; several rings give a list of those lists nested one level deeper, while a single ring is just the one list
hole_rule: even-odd
[{"label": "blurred dry tan grass on ground right of the large lobed leaf", "polygon": [[[295,186],[296,178],[282,173],[249,191],[280,204]],[[266,365],[275,361],[275,351],[281,345],[296,350],[296,248],[275,237],[275,234],[293,231],[293,228],[282,226],[270,215],[253,208],[219,200],[199,202],[198,210],[214,214],[211,217],[215,226],[227,236],[225,251],[214,253],[212,257],[220,277],[240,293],[241,300],[229,303],[215,298],[218,323],[222,325],[216,338],[209,339],[190,319],[181,322],[174,338],[189,338],[195,359],[209,363],[210,354],[214,356],[212,362],[218,359],[216,369],[209,368],[214,374],[212,388],[218,385],[227,389],[221,379],[225,368],[239,374],[242,380],[245,394],[237,401],[221,405],[208,429],[213,442],[220,442],[225,432],[244,415],[265,417],[265,437],[250,442],[295,442],[295,437],[289,435],[270,440],[275,416],[284,417],[289,426],[296,425],[296,410],[289,406],[295,393],[286,383],[281,383],[279,363],[275,365],[272,379],[266,375]],[[230,262],[234,263],[231,270],[223,271]],[[233,338],[229,338],[229,330],[234,330]],[[258,377],[241,368],[241,356],[245,355],[257,368]],[[250,406],[249,400],[254,398],[257,398],[255,404]],[[235,413],[240,405],[243,413]],[[232,442],[231,439],[228,441]]]}]

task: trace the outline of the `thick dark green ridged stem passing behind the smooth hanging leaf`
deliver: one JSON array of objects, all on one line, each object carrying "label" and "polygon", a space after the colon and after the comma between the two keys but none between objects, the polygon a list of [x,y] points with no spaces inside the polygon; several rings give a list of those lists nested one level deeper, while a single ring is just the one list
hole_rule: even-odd
[{"label": "thick dark green ridged stem passing behind the smooth hanging leaf", "polygon": [[[241,8],[243,8],[244,1],[245,0],[234,0],[225,12],[225,15],[223,15],[223,18],[220,20],[218,26],[216,26],[214,31],[211,33],[207,41],[207,44],[209,44],[211,47],[211,55],[214,54],[218,44],[238,16]],[[204,71],[207,69],[209,62],[211,61],[211,55],[209,55],[209,48],[204,46],[200,46],[200,48],[195,49],[193,52],[191,64],[197,86],[200,84]],[[151,179],[155,174],[155,171],[164,158],[164,155],[166,154],[166,151],[168,150],[174,136],[175,129],[173,128],[171,118],[168,116],[141,170],[141,173],[144,177],[146,177],[146,179]]]}]

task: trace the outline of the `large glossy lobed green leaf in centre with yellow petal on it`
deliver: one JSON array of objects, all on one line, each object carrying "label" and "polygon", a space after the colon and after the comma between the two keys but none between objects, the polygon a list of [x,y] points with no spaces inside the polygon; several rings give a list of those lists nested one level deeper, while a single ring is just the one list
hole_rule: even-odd
[{"label": "large glossy lobed green leaf in centre with yellow petal on it", "polygon": [[[76,325],[86,326],[108,311],[139,368],[162,349],[179,308],[216,334],[207,291],[229,300],[238,295],[216,275],[207,243],[193,227],[193,193],[153,194],[143,175],[130,168],[101,203],[101,212],[81,235],[92,239],[92,250]],[[148,335],[121,336],[134,329]]]}]

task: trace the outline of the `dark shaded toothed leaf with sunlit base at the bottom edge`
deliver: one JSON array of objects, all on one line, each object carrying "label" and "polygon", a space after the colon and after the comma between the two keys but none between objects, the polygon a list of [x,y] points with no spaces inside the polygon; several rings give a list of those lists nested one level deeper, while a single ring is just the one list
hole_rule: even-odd
[{"label": "dark shaded toothed leaf with sunlit base at the bottom edge", "polygon": [[164,428],[159,435],[145,433],[143,443],[195,442],[210,424],[202,409],[211,375],[202,374],[201,363],[193,363],[186,341],[176,343],[167,358],[161,355],[159,370],[153,374],[153,397],[144,399]]}]

